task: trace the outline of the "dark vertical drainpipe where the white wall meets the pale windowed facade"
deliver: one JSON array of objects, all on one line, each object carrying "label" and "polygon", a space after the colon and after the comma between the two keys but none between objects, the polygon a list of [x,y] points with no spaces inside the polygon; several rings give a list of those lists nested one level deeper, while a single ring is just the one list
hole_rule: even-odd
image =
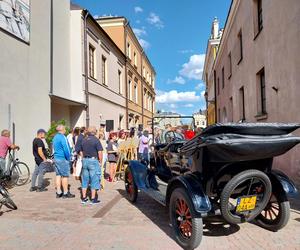
[{"label": "dark vertical drainpipe where the white wall meets the pale windowed facade", "polygon": [[87,48],[87,18],[89,15],[88,10],[84,9],[84,93],[86,104],[86,127],[90,125],[90,108],[89,108],[89,79],[88,79],[88,48]]}]

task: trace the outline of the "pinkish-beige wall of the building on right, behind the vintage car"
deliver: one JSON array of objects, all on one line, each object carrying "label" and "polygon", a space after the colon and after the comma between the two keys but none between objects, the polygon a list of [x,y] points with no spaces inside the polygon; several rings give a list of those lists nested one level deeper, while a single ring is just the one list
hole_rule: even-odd
[{"label": "pinkish-beige wall of the building on right, behind the vintage car", "polygon": [[[234,0],[214,70],[219,93],[218,121],[300,122],[300,4],[263,0],[262,29],[257,1]],[[242,57],[239,34],[242,34]],[[231,53],[231,66],[228,55]],[[224,68],[224,87],[222,69]],[[231,68],[231,71],[230,71]],[[266,112],[262,112],[259,73],[264,69]],[[218,91],[217,91],[218,92]],[[300,131],[295,134],[300,135]],[[275,159],[275,167],[300,183],[300,146]]]}]

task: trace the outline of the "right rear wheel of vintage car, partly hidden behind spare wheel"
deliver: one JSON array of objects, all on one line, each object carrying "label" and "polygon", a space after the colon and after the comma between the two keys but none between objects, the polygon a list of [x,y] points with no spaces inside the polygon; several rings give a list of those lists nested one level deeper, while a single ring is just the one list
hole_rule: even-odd
[{"label": "right rear wheel of vintage car, partly hidden behind spare wheel", "polygon": [[290,218],[290,203],[284,191],[272,193],[269,203],[255,218],[255,222],[270,231],[283,228]]}]

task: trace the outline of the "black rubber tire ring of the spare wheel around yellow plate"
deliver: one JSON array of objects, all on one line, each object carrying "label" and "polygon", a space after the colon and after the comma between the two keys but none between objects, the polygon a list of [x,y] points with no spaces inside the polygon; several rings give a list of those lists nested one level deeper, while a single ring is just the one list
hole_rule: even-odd
[{"label": "black rubber tire ring of the spare wheel around yellow plate", "polygon": [[[238,214],[234,211],[234,208],[231,206],[231,195],[234,190],[243,182],[248,179],[257,178],[262,183],[264,183],[263,197],[259,201],[259,204],[256,205],[247,216],[243,214]],[[220,196],[220,207],[223,218],[231,224],[239,224],[243,222],[248,222],[257,217],[261,211],[266,207],[272,192],[272,184],[269,177],[262,171],[256,169],[245,170],[237,175],[235,175],[224,187]]]}]

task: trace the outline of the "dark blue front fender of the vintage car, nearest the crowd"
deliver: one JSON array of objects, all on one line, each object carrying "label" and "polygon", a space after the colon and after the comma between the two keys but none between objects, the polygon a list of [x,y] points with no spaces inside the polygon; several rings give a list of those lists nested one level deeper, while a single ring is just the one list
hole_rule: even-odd
[{"label": "dark blue front fender of the vintage car, nearest the crowd", "polygon": [[146,189],[146,176],[148,172],[147,166],[139,161],[129,161],[128,167],[132,173],[132,177],[137,188],[140,190]]}]

